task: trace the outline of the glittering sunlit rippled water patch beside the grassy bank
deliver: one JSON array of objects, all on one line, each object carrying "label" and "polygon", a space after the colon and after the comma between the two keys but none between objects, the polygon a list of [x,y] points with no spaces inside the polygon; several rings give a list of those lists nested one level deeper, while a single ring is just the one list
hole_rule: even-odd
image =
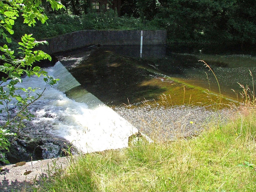
[{"label": "glittering sunlit rippled water patch beside the grassy bank", "polygon": [[138,130],[154,139],[175,140],[197,136],[212,125],[226,123],[231,109],[213,110],[201,106],[150,108],[126,106],[114,110]]}]

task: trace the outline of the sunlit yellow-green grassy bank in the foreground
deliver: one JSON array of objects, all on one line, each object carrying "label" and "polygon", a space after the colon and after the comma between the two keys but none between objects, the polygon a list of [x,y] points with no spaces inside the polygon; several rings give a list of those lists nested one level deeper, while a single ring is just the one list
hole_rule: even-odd
[{"label": "sunlit yellow-green grassy bank in the foreground", "polygon": [[[195,139],[80,156],[39,191],[255,191],[256,109]],[[247,161],[247,162],[245,162]],[[240,166],[238,166],[240,164]]]}]

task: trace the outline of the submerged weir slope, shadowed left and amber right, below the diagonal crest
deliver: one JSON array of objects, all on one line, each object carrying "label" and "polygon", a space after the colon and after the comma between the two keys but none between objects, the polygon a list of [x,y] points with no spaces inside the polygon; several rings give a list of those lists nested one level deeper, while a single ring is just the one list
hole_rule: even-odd
[{"label": "submerged weir slope, shadowed left and amber right, below the diagonal crest", "polygon": [[[152,63],[148,62],[96,49],[70,72],[84,89],[109,106],[128,104],[128,100],[130,104],[144,100],[161,103],[163,94],[171,98],[172,105],[212,104],[206,89],[180,83],[155,68],[150,70],[148,64]],[[217,96],[212,98],[217,101]]]}]

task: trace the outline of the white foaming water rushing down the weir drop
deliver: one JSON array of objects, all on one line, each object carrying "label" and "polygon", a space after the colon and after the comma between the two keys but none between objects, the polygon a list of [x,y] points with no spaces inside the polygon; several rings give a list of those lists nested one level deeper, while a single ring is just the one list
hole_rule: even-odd
[{"label": "white foaming water rushing down the weir drop", "polygon": [[[67,139],[85,153],[128,146],[129,136],[138,132],[135,127],[79,86],[60,62],[46,71],[60,81],[49,86],[43,99],[31,106],[36,115],[33,123]],[[45,82],[41,77],[26,77],[22,86],[43,89]],[[71,98],[64,94],[68,90]]]}]

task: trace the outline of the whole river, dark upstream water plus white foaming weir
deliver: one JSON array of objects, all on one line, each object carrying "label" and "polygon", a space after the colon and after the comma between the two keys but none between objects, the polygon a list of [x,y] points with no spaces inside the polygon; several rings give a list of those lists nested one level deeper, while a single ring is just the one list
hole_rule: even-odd
[{"label": "whole river, dark upstream water plus white foaming weir", "polygon": [[[62,147],[55,139],[87,153],[127,147],[138,130],[164,140],[195,136],[232,113],[216,110],[216,79],[198,60],[216,74],[224,104],[239,101],[231,90],[241,91],[237,82],[252,87],[249,70],[256,75],[256,59],[250,55],[176,53],[158,46],[144,47],[139,58],[138,49],[91,47],[57,55],[59,61],[47,71],[60,81],[30,107],[35,118],[27,123],[23,138],[51,135],[37,143],[39,153],[46,149],[50,157],[58,157]],[[24,78],[23,86],[31,85],[42,89],[45,82]]]}]

